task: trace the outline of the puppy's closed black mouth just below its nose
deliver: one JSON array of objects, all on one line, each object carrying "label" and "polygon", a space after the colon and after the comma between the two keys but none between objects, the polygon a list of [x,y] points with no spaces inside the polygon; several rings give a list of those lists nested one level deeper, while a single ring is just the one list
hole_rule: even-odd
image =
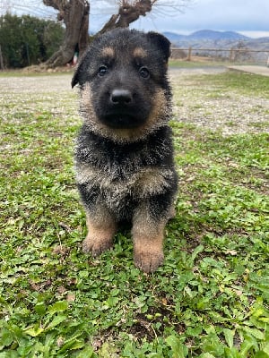
[{"label": "puppy's closed black mouth just below its nose", "polygon": [[129,111],[111,110],[100,117],[100,122],[113,129],[132,129],[143,125],[146,118]]}]

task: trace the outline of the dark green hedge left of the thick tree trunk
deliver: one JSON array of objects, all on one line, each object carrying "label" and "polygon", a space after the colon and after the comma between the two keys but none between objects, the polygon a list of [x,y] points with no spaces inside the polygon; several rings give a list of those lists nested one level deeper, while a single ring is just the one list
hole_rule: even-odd
[{"label": "dark green hedge left of the thick tree trunk", "polygon": [[25,67],[48,59],[60,46],[65,30],[55,21],[6,13],[0,17],[4,67]]}]

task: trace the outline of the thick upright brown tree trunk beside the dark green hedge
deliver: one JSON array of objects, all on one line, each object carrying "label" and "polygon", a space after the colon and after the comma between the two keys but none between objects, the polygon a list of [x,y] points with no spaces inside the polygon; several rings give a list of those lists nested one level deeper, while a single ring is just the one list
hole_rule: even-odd
[{"label": "thick upright brown tree trunk beside the dark green hedge", "polygon": [[87,0],[43,0],[43,3],[58,10],[58,20],[65,23],[63,45],[46,62],[48,67],[62,66],[73,60],[74,52],[82,55],[87,47],[90,4]]}]

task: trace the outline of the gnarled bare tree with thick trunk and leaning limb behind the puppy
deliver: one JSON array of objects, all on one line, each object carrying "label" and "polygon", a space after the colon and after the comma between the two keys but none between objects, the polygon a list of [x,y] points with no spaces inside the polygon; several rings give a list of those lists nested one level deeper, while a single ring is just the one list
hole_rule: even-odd
[{"label": "gnarled bare tree with thick trunk and leaning limb behind the puppy", "polygon": [[[140,16],[145,16],[157,4],[181,9],[191,0],[115,0],[117,13],[113,14],[99,33],[115,28],[126,28]],[[107,0],[107,2],[109,2]],[[65,38],[62,46],[52,55],[47,65],[55,67],[70,62],[76,50],[82,55],[87,47],[90,3],[88,0],[43,0],[47,6],[58,11],[58,20],[65,23]],[[106,3],[106,1],[104,1]],[[111,3],[111,2],[110,2]],[[104,4],[105,7],[105,4]]]}]

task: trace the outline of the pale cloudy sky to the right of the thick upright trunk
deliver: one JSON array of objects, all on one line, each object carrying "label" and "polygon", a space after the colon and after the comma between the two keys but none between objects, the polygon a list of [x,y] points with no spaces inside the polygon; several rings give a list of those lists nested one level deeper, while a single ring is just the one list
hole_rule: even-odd
[{"label": "pale cloudy sky to the right of the thick upright trunk", "polygon": [[[101,3],[91,2],[91,31],[100,29],[104,22],[104,14],[100,14]],[[107,0],[107,3],[106,13],[109,13],[113,1]],[[167,3],[169,1],[160,0],[160,4]],[[193,0],[183,9],[184,13],[168,10],[169,7],[156,6],[152,13],[135,21],[132,27],[182,34],[195,30],[233,30],[255,38],[269,37],[269,0]]]}]

